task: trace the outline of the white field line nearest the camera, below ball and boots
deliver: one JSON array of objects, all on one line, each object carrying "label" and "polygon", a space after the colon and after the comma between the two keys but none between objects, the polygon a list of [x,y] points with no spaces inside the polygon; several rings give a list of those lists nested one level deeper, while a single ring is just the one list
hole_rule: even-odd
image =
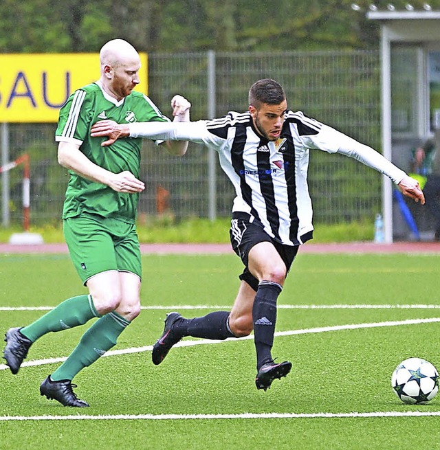
[{"label": "white field line nearest the camera, below ball and boots", "polygon": [[0,416],[0,421],[10,420],[212,420],[212,419],[296,419],[296,418],[381,418],[440,416],[440,411],[386,411],[386,412],[318,412],[318,413],[252,413],[243,414],[115,414],[69,416]]}]

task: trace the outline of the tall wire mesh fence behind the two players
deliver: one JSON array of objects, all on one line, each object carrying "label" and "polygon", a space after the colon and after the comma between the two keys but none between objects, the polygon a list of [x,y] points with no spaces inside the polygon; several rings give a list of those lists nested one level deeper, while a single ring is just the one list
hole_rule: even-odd
[{"label": "tall wire mesh fence behind the two players", "polygon": [[[283,85],[290,109],[380,150],[378,52],[148,55],[149,96],[168,116],[176,93],[192,103],[192,120],[245,111],[248,89],[260,78],[274,78]],[[8,124],[10,161],[30,155],[32,225],[58,225],[61,220],[68,175],[57,163],[55,128],[55,124]],[[184,157],[171,157],[145,140],[141,178],[146,190],[140,197],[140,218],[208,217],[210,207],[215,216],[229,216],[234,191],[217,157],[212,176],[209,153],[204,146],[190,144]],[[3,225],[20,223],[23,216],[22,172],[15,168],[7,177],[8,183],[3,178],[0,187],[3,199],[8,199]],[[380,175],[350,158],[312,151],[309,185],[316,223],[371,221],[381,210]]]}]

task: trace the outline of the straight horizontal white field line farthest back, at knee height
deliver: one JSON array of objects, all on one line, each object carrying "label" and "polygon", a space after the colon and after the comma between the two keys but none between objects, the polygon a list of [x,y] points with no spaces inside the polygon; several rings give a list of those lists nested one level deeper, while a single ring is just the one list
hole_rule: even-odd
[{"label": "straight horizontal white field line farthest back, at knee height", "polygon": [[[50,311],[53,306],[0,306],[0,311]],[[152,305],[141,309],[230,309],[231,305]],[[440,304],[279,304],[278,309],[440,309]]]}]

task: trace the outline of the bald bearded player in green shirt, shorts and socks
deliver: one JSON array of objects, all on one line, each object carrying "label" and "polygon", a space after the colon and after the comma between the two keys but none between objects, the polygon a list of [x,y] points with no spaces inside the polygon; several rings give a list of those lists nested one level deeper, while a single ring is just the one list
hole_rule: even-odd
[{"label": "bald bearded player in green shirt, shorts and socks", "polygon": [[[126,41],[114,39],[100,50],[100,80],[75,91],[61,108],[56,141],[58,162],[71,175],[63,208],[69,254],[89,295],[59,304],[28,326],[10,328],[3,351],[17,374],[30,346],[49,333],[98,320],[85,332],[67,360],[41,383],[41,395],[65,406],[87,407],[74,393],[72,379],[115,346],[118,336],[140,313],[141,259],[135,228],[140,192],[142,138],[120,139],[102,147],[90,137],[102,119],[116,122],[168,122],[139,83],[140,57]],[[174,120],[189,121],[190,103],[171,100]],[[174,155],[184,155],[188,142],[163,142]]]}]

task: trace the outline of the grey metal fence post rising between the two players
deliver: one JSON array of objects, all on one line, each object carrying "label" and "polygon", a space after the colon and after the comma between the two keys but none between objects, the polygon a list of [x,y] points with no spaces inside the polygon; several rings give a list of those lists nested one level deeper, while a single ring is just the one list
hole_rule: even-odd
[{"label": "grey metal fence post rising between the two players", "polygon": [[[215,117],[215,52],[208,51],[208,118]],[[208,149],[208,218],[214,221],[217,218],[217,173],[216,153]]]}]

